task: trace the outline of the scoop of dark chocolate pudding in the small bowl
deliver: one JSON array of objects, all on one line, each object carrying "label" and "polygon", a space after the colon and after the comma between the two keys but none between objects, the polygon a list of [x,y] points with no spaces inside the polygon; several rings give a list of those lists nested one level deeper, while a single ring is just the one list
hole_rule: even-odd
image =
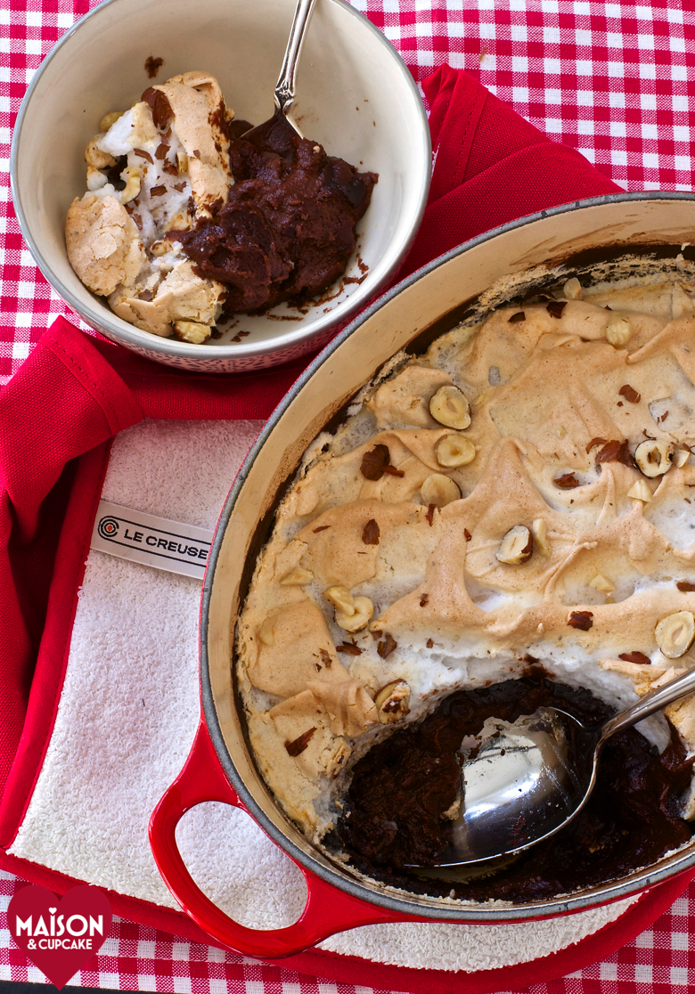
[{"label": "scoop of dark chocolate pudding in the small bowl", "polygon": [[229,288],[226,314],[303,302],[325,290],[355,250],[355,226],[378,178],[326,155],[284,121],[254,143],[239,131],[233,122],[235,183],[227,203],[191,231],[169,233],[198,275]]}]

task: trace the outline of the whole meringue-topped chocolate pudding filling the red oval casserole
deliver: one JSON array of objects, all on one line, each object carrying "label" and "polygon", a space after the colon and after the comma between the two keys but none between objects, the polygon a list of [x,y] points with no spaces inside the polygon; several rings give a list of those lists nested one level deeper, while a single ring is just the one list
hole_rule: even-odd
[{"label": "whole meringue-topped chocolate pudding filling the red oval casserole", "polygon": [[395,357],[306,453],[237,673],[269,788],[357,871],[531,900],[690,840],[688,698],[607,745],[592,802],[547,843],[481,880],[404,869],[445,849],[486,718],[546,703],[597,724],[695,663],[695,286],[673,268],[549,273]]}]

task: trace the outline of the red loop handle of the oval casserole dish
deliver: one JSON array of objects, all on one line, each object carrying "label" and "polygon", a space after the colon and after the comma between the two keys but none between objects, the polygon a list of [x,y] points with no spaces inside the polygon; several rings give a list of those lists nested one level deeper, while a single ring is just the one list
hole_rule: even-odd
[{"label": "red loop handle of the oval casserole dish", "polygon": [[[299,918],[283,928],[249,928],[217,908],[196,885],[176,844],[176,826],[183,815],[204,801],[222,801],[249,814],[222,769],[203,722],[186,763],[152,813],[149,841],[157,868],[182,909],[217,943],[263,959],[291,956],[329,935],[358,925],[385,921],[419,921],[367,904],[326,884],[305,870],[307,900]],[[251,816],[250,816],[251,817]],[[291,859],[291,857],[290,857]]]}]

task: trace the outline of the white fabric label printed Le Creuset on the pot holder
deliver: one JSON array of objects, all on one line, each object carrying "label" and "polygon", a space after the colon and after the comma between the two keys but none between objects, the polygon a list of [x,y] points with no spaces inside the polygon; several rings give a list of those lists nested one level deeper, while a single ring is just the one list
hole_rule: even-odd
[{"label": "white fabric label printed Le Creuset on the pot holder", "polygon": [[91,548],[168,573],[203,579],[213,533],[100,500]]}]

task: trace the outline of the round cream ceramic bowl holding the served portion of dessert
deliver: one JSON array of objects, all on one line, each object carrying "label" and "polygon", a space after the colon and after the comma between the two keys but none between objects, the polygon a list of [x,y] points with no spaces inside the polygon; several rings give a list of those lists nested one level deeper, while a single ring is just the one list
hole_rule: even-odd
[{"label": "round cream ceramic bowl holding the served portion of dessert", "polygon": [[[297,71],[293,116],[330,155],[379,173],[358,226],[362,283],[329,302],[242,316],[202,346],[162,339],[113,314],[73,271],[65,248],[68,207],[86,186],[87,142],[109,110],[130,106],[153,81],[205,70],[222,85],[237,117],[260,123],[272,113],[294,0],[105,0],[59,42],[35,75],[12,143],[12,194],[42,272],[92,328],[140,355],[209,373],[259,369],[324,344],[394,274],[420,224],[430,187],[430,132],[418,88],[396,50],[344,0],[318,0]],[[361,276],[357,257],[347,275]],[[232,338],[250,332],[241,342]]]}]

